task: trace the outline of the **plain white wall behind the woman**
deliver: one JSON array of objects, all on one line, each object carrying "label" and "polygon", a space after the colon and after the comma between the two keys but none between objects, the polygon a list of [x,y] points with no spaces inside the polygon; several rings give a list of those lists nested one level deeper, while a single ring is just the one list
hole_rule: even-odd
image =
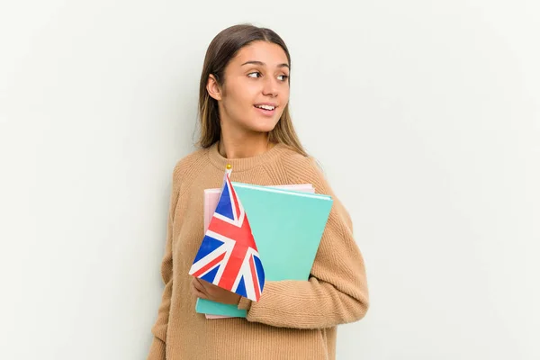
[{"label": "plain white wall behind the woman", "polygon": [[538,359],[540,6],[0,5],[0,358],[143,359],[211,38],[275,29],[372,307],[339,360]]}]

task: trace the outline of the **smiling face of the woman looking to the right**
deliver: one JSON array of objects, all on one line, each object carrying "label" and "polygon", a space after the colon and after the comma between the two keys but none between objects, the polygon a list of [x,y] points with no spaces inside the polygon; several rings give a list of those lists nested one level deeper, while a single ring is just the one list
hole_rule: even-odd
[{"label": "smiling face of the woman looking to the right", "polygon": [[[213,86],[217,88],[215,82]],[[222,126],[244,132],[273,130],[289,102],[284,49],[266,41],[240,49],[225,68],[224,85],[216,93],[211,95],[219,100]]]}]

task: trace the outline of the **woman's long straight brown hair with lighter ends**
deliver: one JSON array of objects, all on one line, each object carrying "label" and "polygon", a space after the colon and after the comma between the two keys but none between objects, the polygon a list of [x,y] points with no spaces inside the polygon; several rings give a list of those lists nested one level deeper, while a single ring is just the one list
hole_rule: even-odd
[{"label": "woman's long straight brown hair with lighter ends", "polygon": [[[220,111],[218,102],[212,98],[206,90],[206,84],[210,75],[216,77],[220,86],[224,84],[225,67],[229,64],[231,58],[234,58],[238,51],[249,45],[253,41],[263,40],[275,43],[284,49],[289,66],[291,67],[291,55],[285,45],[284,40],[275,31],[266,28],[260,28],[251,24],[238,24],[230,26],[220,31],[216,37],[211,40],[204,64],[202,66],[201,82],[199,86],[199,125],[201,133],[197,145],[201,148],[210,148],[214,143],[220,140]],[[289,85],[290,83],[289,77]],[[293,127],[293,120],[289,112],[289,103],[284,108],[275,128],[268,134],[268,140],[271,142],[281,142],[293,148],[303,156],[308,156],[296,131]]]}]

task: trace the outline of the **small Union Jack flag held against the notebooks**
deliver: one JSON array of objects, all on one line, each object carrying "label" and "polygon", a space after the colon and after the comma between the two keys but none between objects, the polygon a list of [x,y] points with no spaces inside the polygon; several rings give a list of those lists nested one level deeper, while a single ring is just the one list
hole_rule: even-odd
[{"label": "small Union Jack flag held against the notebooks", "polygon": [[265,284],[265,272],[229,173],[225,173],[220,201],[189,275],[257,302]]}]

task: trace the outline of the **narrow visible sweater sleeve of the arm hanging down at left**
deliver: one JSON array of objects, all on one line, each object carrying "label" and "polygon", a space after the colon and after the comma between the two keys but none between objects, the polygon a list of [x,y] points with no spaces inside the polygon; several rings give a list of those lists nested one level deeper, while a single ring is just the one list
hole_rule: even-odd
[{"label": "narrow visible sweater sleeve of the arm hanging down at left", "polygon": [[149,349],[147,360],[166,360],[166,329],[173,289],[173,224],[175,219],[175,207],[179,196],[178,168],[179,166],[176,165],[175,171],[173,172],[173,184],[166,226],[165,254],[161,261],[161,278],[165,288],[161,296],[161,303],[157,310],[157,320],[152,327],[154,338]]}]

